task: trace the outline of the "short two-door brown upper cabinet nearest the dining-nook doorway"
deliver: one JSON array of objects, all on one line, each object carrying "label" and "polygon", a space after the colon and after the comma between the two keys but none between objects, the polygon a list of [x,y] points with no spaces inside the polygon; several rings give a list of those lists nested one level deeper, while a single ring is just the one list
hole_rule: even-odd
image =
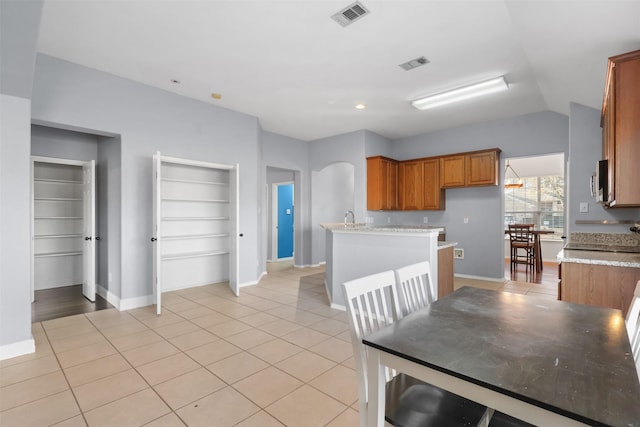
[{"label": "short two-door brown upper cabinet nearest the dining-nook doorway", "polygon": [[440,158],[442,188],[498,185],[500,149],[473,151]]}]

